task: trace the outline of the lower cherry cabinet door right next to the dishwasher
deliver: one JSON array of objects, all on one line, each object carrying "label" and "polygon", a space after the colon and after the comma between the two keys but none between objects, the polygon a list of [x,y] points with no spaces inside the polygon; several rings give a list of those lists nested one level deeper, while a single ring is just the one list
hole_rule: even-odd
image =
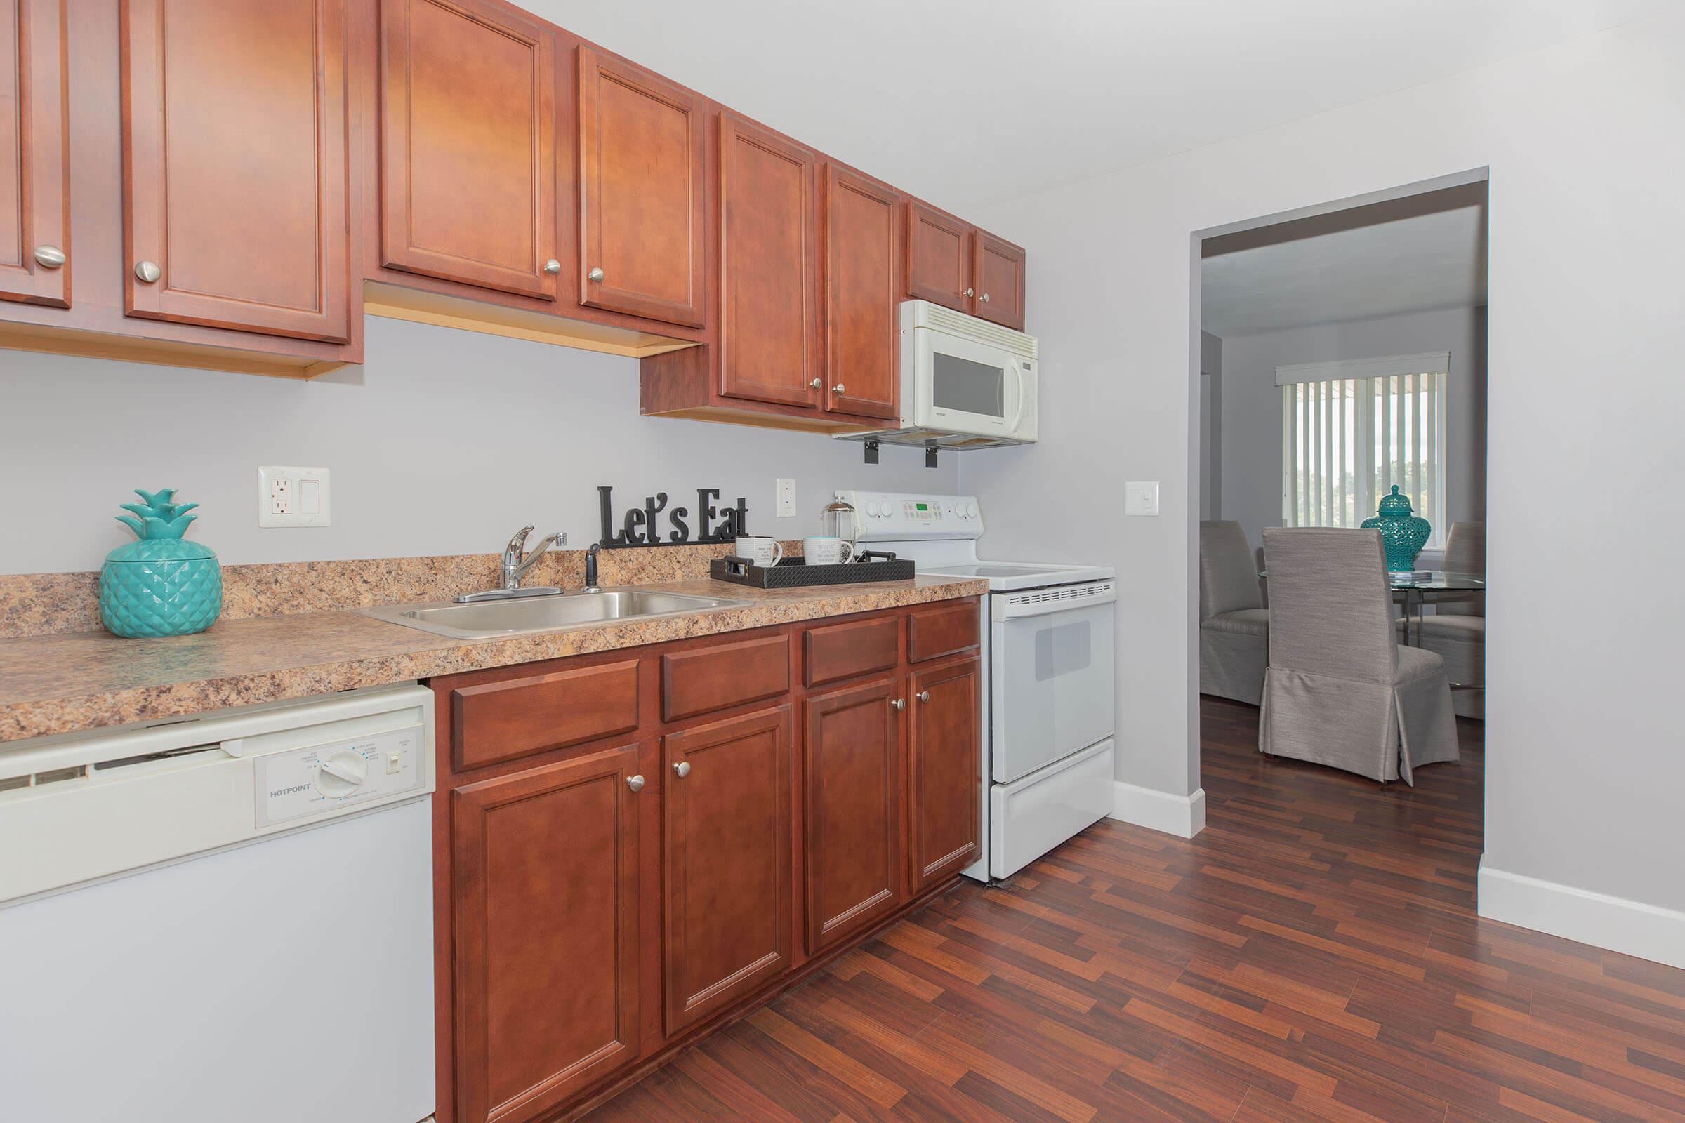
[{"label": "lower cherry cabinet door right next to the dishwasher", "polygon": [[541,1118],[637,1057],[637,761],[450,793],[457,1123]]}]

